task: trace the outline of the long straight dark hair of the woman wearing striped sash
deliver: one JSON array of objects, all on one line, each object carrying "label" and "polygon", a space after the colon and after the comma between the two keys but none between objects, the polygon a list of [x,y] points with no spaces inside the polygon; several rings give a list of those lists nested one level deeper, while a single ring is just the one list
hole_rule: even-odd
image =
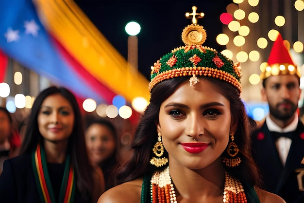
[{"label": "long straight dark hair of the woman wearing striped sash", "polygon": [[60,94],[66,98],[74,111],[74,125],[71,135],[68,138],[68,152],[71,157],[71,164],[74,168],[77,188],[87,201],[92,200],[93,191],[93,168],[90,165],[85,148],[84,128],[82,115],[72,92],[64,87],[49,87],[39,93],[34,101],[28,125],[25,131],[24,140],[20,149],[20,154],[31,154],[38,143],[42,143],[43,137],[38,129],[37,116],[43,101],[50,95]]}]

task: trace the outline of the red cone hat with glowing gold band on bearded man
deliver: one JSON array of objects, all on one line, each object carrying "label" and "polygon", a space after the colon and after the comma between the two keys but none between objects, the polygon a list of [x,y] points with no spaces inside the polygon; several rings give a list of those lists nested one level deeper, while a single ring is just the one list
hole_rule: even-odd
[{"label": "red cone hat with glowing gold band on bearded man", "polygon": [[300,69],[294,64],[291,55],[283,43],[283,38],[279,33],[274,41],[268,58],[268,67],[262,71],[262,80],[271,75],[296,74],[301,77]]}]

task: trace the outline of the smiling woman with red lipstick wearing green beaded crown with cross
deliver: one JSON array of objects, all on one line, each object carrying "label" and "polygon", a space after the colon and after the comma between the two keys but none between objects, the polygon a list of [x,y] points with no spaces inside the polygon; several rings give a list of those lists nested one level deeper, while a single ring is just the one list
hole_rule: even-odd
[{"label": "smiling woman with red lipstick wearing green beaded crown with cross", "polygon": [[154,63],[147,107],[120,167],[121,185],[98,203],[284,203],[254,187],[249,121],[240,99],[240,70],[220,52],[203,47],[206,33],[192,24],[186,46]]}]

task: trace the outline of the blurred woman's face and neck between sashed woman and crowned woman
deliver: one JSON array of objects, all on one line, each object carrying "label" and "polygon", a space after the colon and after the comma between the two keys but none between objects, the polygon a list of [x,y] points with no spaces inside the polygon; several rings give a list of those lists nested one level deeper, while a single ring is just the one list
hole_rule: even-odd
[{"label": "blurred woman's face and neck between sashed woman and crowned woman", "polygon": [[95,119],[87,124],[85,143],[91,162],[100,166],[106,189],[113,185],[113,168],[118,163],[118,138],[114,125],[105,119]]}]

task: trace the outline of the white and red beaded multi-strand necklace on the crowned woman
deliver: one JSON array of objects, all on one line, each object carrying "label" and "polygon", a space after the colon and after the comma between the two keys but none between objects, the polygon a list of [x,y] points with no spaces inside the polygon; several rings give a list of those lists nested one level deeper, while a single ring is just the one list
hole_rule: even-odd
[{"label": "white and red beaded multi-strand necklace on the crowned woman", "polygon": [[[155,171],[151,178],[152,203],[177,203],[174,186],[171,181],[169,166],[162,171]],[[223,203],[247,203],[244,188],[239,180],[225,172]]]}]

